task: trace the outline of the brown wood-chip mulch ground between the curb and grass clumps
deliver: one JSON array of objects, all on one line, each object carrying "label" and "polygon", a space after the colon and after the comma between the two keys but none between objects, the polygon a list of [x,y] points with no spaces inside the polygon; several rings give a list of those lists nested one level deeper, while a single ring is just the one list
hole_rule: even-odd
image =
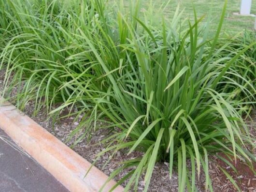
[{"label": "brown wood-chip mulch ground between the curb and grass clumps", "polygon": [[[2,90],[2,82],[4,79],[4,70],[0,70],[0,92]],[[12,96],[16,95],[15,87],[12,91]],[[13,103],[15,104],[15,103]],[[78,134],[71,138],[68,142],[65,142],[71,132],[79,125],[80,120],[83,118],[81,115],[78,121],[74,122],[74,117],[66,117],[59,118],[59,120],[54,120],[53,118],[49,118],[47,116],[47,112],[45,108],[42,108],[36,115],[34,115],[34,103],[30,101],[25,109],[24,113],[27,114],[30,118],[32,118],[35,122],[40,124],[43,128],[57,137],[59,140],[64,142],[67,146],[71,147],[73,143],[83,135],[83,129],[80,130]],[[65,115],[68,113],[68,109],[64,110],[61,115]],[[255,127],[256,127],[256,112],[253,111],[252,121],[248,121],[248,125],[250,127],[250,131],[252,136],[256,136]],[[103,128],[101,128],[103,127]],[[114,130],[118,131],[118,129]],[[113,132],[114,132],[113,131]],[[92,133],[90,138],[85,137],[81,141],[77,143],[72,149],[73,151],[80,154],[90,163],[93,163],[97,154],[100,151],[103,151],[106,145],[100,143],[104,138],[110,136],[111,133],[109,129],[104,128],[103,123],[97,123],[97,130]],[[255,153],[256,154],[256,153]],[[103,154],[100,159],[96,162],[95,166],[98,167],[101,171],[103,171],[106,175],[110,175],[116,168],[118,168],[121,162],[139,157],[142,155],[140,152],[133,152],[130,155],[127,155],[127,151],[122,150],[118,151],[113,158],[109,161],[112,153],[107,152]],[[232,164],[237,168],[238,173],[235,173],[231,170],[230,166],[225,164],[223,161],[219,160],[216,156],[209,157],[209,176],[212,180],[213,191],[214,192],[235,192],[237,189],[233,186],[231,181],[227,178],[227,176],[221,171],[221,168],[226,170],[232,178],[237,182],[238,186],[242,189],[242,191],[254,192],[256,190],[256,176],[253,172],[242,162],[238,162],[237,165],[232,162]],[[188,162],[188,167],[189,162]],[[256,168],[256,164],[255,164]],[[124,170],[121,172],[115,180],[119,180],[123,178],[130,170]],[[143,187],[143,176],[141,177],[138,191],[142,192]],[[196,181],[196,185],[199,191],[205,191],[204,185],[205,176],[203,170],[201,170],[200,178]],[[128,181],[127,181],[128,182]],[[123,187],[126,186],[126,183],[122,184]],[[151,184],[149,188],[149,192],[177,192],[178,191],[178,174],[176,172],[173,173],[172,178],[169,178],[169,164],[167,162],[159,162],[154,167],[153,176],[151,178]]]}]

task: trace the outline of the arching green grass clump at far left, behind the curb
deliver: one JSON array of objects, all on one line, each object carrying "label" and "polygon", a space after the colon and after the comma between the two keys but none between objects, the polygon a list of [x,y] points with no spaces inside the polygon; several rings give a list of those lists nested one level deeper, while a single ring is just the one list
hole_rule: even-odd
[{"label": "arching green grass clump at far left, behind the curb", "polygon": [[33,100],[35,114],[43,106],[49,112],[54,105],[79,95],[71,86],[61,87],[70,82],[70,71],[73,75],[86,71],[86,62],[73,65],[68,58],[80,53],[73,46],[79,41],[74,33],[81,30],[79,22],[87,27],[94,25],[89,21],[96,19],[96,4],[59,0],[0,2],[0,69],[6,70],[4,93],[16,87],[20,109]]}]

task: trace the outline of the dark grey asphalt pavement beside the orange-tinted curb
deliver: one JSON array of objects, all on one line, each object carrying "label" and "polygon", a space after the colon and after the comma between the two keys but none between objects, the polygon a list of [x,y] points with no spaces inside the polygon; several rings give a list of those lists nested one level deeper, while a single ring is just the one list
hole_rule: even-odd
[{"label": "dark grey asphalt pavement beside the orange-tinted curb", "polygon": [[0,129],[0,192],[69,192]]}]

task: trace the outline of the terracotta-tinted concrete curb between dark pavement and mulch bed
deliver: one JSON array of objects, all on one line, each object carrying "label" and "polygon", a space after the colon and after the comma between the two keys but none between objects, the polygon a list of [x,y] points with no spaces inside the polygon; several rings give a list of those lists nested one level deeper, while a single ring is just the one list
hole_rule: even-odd
[{"label": "terracotta-tinted concrete curb between dark pavement and mulch bed", "polygon": [[[0,127],[71,192],[99,192],[108,179],[95,166],[84,178],[91,166],[88,161],[1,97]],[[109,192],[115,184],[109,181],[103,192]],[[114,190],[123,191],[121,186]]]}]

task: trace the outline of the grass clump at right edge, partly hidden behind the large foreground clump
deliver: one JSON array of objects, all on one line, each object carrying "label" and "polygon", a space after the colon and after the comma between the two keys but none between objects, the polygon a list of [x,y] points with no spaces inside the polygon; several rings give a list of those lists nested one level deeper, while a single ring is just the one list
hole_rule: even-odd
[{"label": "grass clump at right edge, partly hidden behind the large foreground clump", "polygon": [[[238,33],[237,36],[232,38],[222,38],[215,48],[216,52],[221,50],[221,52],[216,56],[218,58],[226,58],[223,59],[223,64],[253,42],[256,42],[256,31],[244,31],[242,35],[241,33]],[[225,46],[225,44],[228,44],[228,46],[226,46],[225,49],[220,49],[222,46]],[[230,96],[236,100],[241,100],[243,102],[243,106],[247,108],[255,108],[256,45],[254,44],[251,46],[234,62],[235,64],[230,66],[230,69],[228,69],[223,80],[223,83],[225,83],[225,79],[234,83],[229,83],[229,86],[222,86],[223,84],[220,84],[218,91],[230,92],[232,93]]]}]

